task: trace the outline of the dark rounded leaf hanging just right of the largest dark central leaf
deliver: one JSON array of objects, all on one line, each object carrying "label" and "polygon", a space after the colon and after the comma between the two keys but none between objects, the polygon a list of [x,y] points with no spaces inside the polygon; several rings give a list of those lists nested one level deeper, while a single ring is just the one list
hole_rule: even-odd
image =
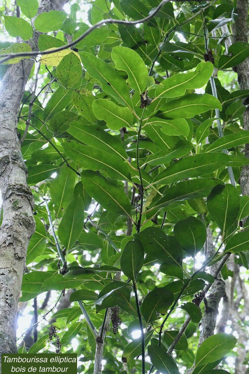
[{"label": "dark rounded leaf hanging just right of the largest dark central leaf", "polygon": [[198,218],[188,217],[175,224],[174,235],[182,249],[195,257],[205,244],[207,230],[205,224]]}]

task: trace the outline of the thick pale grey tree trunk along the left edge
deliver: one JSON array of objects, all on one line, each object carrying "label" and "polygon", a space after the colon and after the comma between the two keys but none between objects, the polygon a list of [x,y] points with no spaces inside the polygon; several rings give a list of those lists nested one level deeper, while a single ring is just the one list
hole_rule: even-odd
[{"label": "thick pale grey tree trunk along the left edge", "polygon": [[[57,1],[59,9],[66,2]],[[58,7],[53,7],[49,0],[42,0],[38,13],[53,9]],[[39,35],[39,32],[34,33],[34,45],[37,45]],[[16,352],[17,306],[27,247],[35,229],[34,200],[27,186],[27,168],[16,135],[17,113],[33,64],[32,59],[25,59],[10,65],[0,87],[0,189],[3,199],[0,229],[0,353]]]}]

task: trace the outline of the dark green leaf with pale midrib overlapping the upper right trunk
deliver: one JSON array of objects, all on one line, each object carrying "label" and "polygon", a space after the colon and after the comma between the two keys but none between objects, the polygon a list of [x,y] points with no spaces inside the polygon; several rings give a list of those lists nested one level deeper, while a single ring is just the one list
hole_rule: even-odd
[{"label": "dark green leaf with pale midrib overlapping the upper right trunk", "polygon": [[218,69],[228,69],[241,64],[249,56],[249,44],[244,42],[233,43],[227,51],[227,55],[219,58]]}]

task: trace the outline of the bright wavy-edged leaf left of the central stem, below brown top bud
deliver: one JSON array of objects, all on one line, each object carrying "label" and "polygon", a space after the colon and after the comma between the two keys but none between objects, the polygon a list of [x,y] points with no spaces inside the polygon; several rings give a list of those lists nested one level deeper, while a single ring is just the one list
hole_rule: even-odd
[{"label": "bright wavy-edged leaf left of the central stem, below brown top bud", "polygon": [[107,127],[119,130],[122,127],[131,127],[133,115],[129,108],[121,107],[107,99],[95,100],[92,104],[93,113],[99,120],[104,120]]}]

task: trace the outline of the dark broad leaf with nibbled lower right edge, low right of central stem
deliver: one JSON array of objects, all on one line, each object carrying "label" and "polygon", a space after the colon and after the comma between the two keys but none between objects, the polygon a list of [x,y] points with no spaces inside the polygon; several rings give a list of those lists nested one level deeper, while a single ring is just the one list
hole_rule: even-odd
[{"label": "dark broad leaf with nibbled lower right edge, low right of central stem", "polygon": [[168,291],[166,287],[154,288],[145,296],[142,302],[141,313],[146,325],[160,318],[158,313],[165,315],[173,303],[173,293]]}]

